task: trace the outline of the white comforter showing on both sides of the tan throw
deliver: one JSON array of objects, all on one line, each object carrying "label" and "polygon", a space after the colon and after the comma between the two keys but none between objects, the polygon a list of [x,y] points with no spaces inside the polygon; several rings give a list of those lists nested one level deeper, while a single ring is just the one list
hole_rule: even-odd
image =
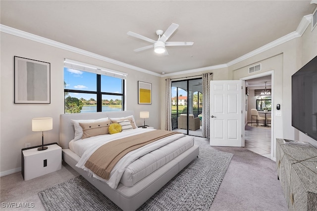
[{"label": "white comforter showing on both sides of the tan throw", "polygon": [[[89,159],[89,157],[102,145],[106,144],[107,142],[119,139],[119,138],[124,138],[128,137],[131,135],[136,135],[136,134],[141,134],[144,132],[148,132],[154,129],[144,129],[144,128],[136,128],[133,130],[128,130],[125,132],[120,132],[120,133],[115,133],[115,134],[107,134],[107,135],[98,135],[94,137],[89,137],[85,139],[80,139],[76,141],[77,147],[74,147],[72,143],[70,143],[70,148],[72,151],[77,153],[81,159],[77,163],[76,167],[84,169],[85,171],[88,171],[90,176],[92,175],[93,177],[102,180],[106,182],[111,188],[115,189],[121,179],[121,176],[124,172],[124,170],[127,168],[129,164],[131,164],[133,161],[138,159],[139,157],[152,152],[153,150],[159,149],[160,147],[173,142],[176,139],[179,139],[183,136],[184,134],[174,134],[165,138],[162,138],[160,141],[155,141],[151,144],[148,144],[146,146],[143,146],[139,148],[138,150],[134,150],[126,154],[112,169],[110,173],[110,178],[109,180],[103,179],[93,173],[90,169],[87,169],[84,165],[86,161]],[[80,147],[78,147],[80,146]],[[73,148],[73,149],[72,149]]]}]

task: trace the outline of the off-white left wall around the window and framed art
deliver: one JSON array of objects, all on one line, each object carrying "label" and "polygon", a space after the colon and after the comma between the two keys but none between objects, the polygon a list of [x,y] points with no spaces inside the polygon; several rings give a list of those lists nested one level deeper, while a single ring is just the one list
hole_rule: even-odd
[{"label": "off-white left wall around the window and framed art", "polygon": [[[150,111],[147,125],[160,127],[160,78],[117,66],[51,45],[1,33],[0,79],[0,174],[21,170],[21,149],[25,143],[42,144],[41,132],[32,131],[32,118],[53,117],[53,130],[44,132],[44,142],[59,142],[59,115],[64,113],[64,58],[128,73],[126,109],[134,110],[136,123],[143,125],[140,111]],[[51,63],[51,104],[14,104],[14,56]],[[151,105],[138,104],[138,81],[152,83]]]}]

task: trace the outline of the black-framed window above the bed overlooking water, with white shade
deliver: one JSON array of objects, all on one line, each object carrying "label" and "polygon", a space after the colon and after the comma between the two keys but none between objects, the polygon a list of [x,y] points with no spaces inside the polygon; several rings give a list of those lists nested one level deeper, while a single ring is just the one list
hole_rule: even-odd
[{"label": "black-framed window above the bed overlooking water, with white shade", "polygon": [[124,110],[126,74],[65,59],[64,112]]}]

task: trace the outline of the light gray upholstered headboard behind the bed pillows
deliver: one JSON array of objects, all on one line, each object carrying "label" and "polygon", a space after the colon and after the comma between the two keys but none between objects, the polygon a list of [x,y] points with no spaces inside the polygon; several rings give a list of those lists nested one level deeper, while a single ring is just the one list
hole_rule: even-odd
[{"label": "light gray upholstered headboard behind the bed pillows", "polygon": [[97,120],[100,118],[118,118],[134,115],[133,111],[94,112],[79,114],[61,114],[59,116],[59,144],[67,149],[69,141],[74,138],[75,129],[71,120]]}]

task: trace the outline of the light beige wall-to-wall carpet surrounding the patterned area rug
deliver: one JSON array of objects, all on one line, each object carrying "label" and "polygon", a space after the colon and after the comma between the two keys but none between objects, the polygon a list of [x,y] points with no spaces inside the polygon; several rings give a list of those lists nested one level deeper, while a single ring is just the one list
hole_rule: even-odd
[{"label": "light beige wall-to-wall carpet surrounding the patterned area rug", "polygon": [[[257,133],[255,133],[257,135]],[[242,147],[211,147],[209,139],[195,144],[234,154],[210,211],[288,211],[274,161]],[[62,169],[24,181],[21,171],[0,177],[1,211],[44,211],[38,192],[79,176],[63,162]],[[6,203],[33,203],[34,208],[14,208]]]}]

